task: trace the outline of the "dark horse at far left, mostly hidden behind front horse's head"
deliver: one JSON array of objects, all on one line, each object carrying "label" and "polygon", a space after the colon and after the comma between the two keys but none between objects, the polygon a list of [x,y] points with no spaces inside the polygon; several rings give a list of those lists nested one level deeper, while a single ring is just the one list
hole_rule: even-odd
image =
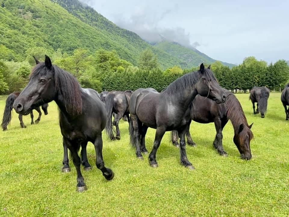
[{"label": "dark horse at far left, mostly hidden behind front horse's head", "polygon": [[[14,103],[14,100],[19,96],[19,94],[20,94],[20,92],[11,93],[6,99],[5,109],[4,109],[4,114],[3,114],[2,124],[1,124],[3,131],[7,130],[7,126],[11,121],[11,118],[12,118],[11,111],[13,109],[13,103]],[[41,105],[41,108],[42,108],[45,115],[48,115],[47,107],[48,107],[47,103]],[[40,107],[36,107],[34,109],[39,113],[38,118],[35,120],[35,124],[38,124],[40,119],[41,119],[42,112],[40,110]],[[23,115],[21,115],[21,114],[19,114],[19,116],[18,116],[19,121],[20,121],[20,126],[21,126],[21,128],[26,128],[25,124],[23,123],[22,116]],[[31,124],[34,124],[33,110],[30,111],[30,117],[31,117]]]}]

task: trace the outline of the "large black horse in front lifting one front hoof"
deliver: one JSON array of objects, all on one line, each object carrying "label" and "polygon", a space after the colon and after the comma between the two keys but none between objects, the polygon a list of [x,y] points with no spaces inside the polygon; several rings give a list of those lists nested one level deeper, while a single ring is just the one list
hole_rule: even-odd
[{"label": "large black horse in front lifting one front hoof", "polygon": [[[87,189],[80,171],[81,159],[77,152],[82,146],[86,156],[88,142],[94,144],[97,168],[107,180],[113,179],[113,171],[104,166],[102,158],[101,132],[105,127],[107,115],[99,94],[95,90],[81,88],[73,75],[52,65],[50,58],[45,55],[44,63],[36,60],[29,82],[15,100],[13,108],[17,113],[27,115],[31,109],[52,100],[59,108],[64,157],[65,154],[67,156],[68,148],[76,168],[77,191]],[[63,169],[69,168],[68,159],[64,158],[63,164]]]}]

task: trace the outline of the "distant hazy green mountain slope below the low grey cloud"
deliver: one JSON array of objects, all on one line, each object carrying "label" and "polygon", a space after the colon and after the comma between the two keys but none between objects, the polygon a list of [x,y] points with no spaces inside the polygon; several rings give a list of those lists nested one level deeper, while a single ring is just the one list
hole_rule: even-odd
[{"label": "distant hazy green mountain slope below the low grey cloud", "polygon": [[[162,42],[156,43],[154,47],[161,49],[176,58],[179,58],[181,61],[184,61],[188,68],[197,66],[202,62],[209,64],[217,61],[198,51],[197,49],[186,48],[176,42],[169,42],[164,40]],[[222,61],[220,62],[230,68],[235,66],[234,64]]]}]

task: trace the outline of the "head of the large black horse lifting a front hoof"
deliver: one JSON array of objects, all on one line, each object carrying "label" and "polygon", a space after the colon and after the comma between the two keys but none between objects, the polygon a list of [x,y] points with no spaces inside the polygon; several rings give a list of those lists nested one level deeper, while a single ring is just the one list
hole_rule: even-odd
[{"label": "head of the large black horse lifting a front hoof", "polygon": [[44,63],[40,63],[36,58],[34,59],[36,66],[32,69],[29,82],[13,103],[15,111],[22,115],[28,115],[31,109],[51,102],[57,92],[54,67],[51,64],[50,58],[45,55]]}]

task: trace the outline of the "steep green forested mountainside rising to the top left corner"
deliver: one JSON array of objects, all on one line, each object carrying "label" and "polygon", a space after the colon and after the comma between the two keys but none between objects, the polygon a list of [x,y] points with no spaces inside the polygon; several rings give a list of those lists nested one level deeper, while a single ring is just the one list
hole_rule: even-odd
[{"label": "steep green forested mountainside rising to the top left corner", "polygon": [[[198,59],[215,61],[207,56],[200,58],[202,53],[188,52],[182,46],[176,52],[151,46],[77,0],[0,0],[0,5],[0,59],[22,61],[26,51],[37,46],[48,54],[57,49],[69,55],[79,48],[91,53],[100,48],[116,50],[134,65],[138,65],[141,51],[150,48],[163,69],[173,65],[190,68],[201,62]],[[176,55],[178,52],[186,54]]]}]

